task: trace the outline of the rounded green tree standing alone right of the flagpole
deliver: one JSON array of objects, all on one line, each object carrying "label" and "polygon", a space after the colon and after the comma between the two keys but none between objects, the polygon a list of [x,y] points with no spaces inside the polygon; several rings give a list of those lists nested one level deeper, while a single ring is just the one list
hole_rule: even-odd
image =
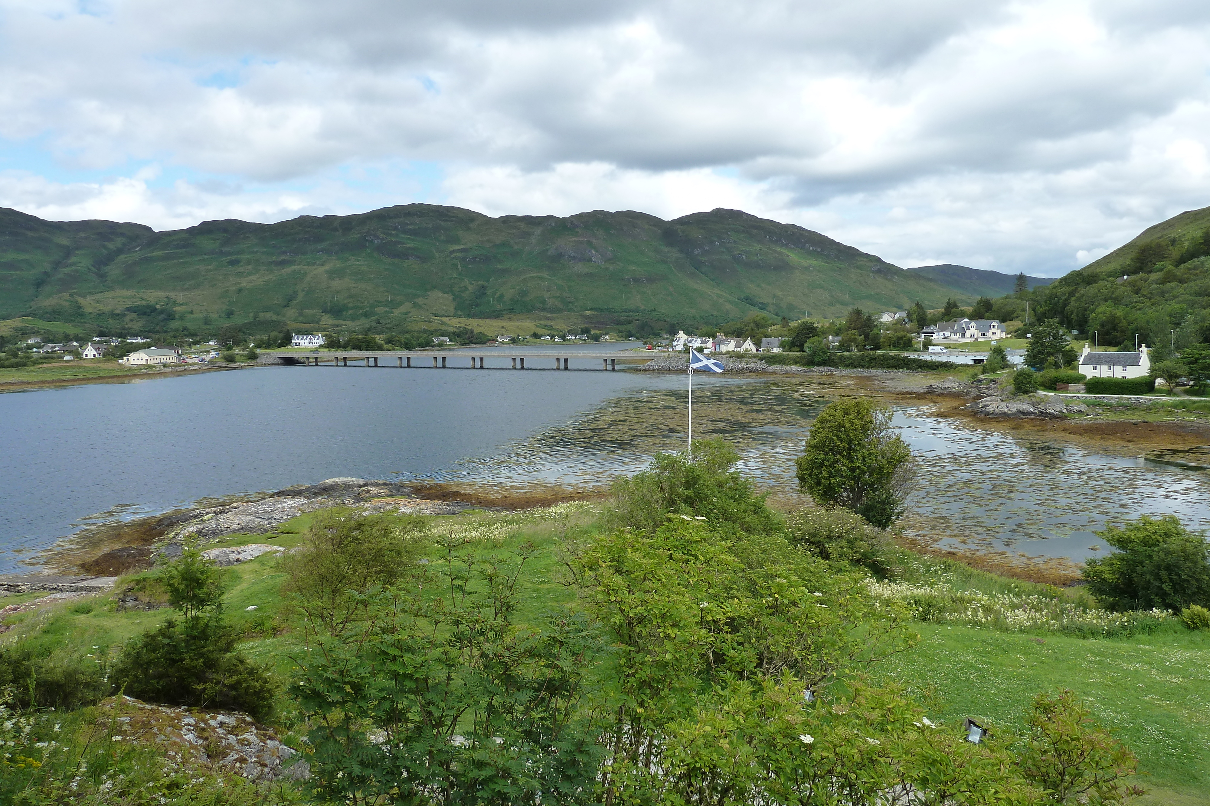
[{"label": "rounded green tree standing alone right of the flagpole", "polygon": [[819,412],[796,460],[799,487],[822,506],[842,506],[887,528],[903,514],[911,448],[891,429],[891,410],[865,399]]}]

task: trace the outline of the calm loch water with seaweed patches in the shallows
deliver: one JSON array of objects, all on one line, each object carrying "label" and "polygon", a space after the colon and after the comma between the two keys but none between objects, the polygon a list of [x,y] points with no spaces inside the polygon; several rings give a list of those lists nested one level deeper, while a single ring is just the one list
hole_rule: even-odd
[{"label": "calm loch water with seaweed patches in the shallows", "polygon": [[[695,434],[732,441],[745,475],[794,498],[811,419],[846,383],[695,375]],[[90,522],[334,476],[600,487],[682,450],[685,402],[682,375],[352,366],[5,394],[0,573]],[[1082,559],[1107,520],[1210,526],[1204,472],[927,408],[897,408],[895,425],[921,458],[904,526],[943,545]]]}]

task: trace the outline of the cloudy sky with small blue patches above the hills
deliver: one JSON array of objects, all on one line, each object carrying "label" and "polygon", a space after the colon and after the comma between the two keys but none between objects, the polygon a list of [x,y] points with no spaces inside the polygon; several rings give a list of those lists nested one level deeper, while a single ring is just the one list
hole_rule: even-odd
[{"label": "cloudy sky with small blue patches above the hills", "polygon": [[1059,276],[1210,205],[1205,0],[0,0],[0,205],[731,207]]}]

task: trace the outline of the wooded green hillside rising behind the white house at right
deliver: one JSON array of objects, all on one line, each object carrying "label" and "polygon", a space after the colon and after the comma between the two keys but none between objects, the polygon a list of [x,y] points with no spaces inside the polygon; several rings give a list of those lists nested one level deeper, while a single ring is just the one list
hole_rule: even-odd
[{"label": "wooded green hillside rising behind the white house at right", "polygon": [[1210,342],[1210,208],[1148,227],[1031,298],[1036,314],[1095,332],[1101,344]]}]

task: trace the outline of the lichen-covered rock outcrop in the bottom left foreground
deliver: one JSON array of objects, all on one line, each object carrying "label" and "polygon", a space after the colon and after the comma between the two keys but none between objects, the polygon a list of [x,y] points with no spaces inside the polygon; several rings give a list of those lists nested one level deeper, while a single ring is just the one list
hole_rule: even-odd
[{"label": "lichen-covered rock outcrop in the bottom left foreground", "polygon": [[200,708],[168,708],[116,696],[102,701],[97,726],[111,740],[154,747],[166,758],[191,766],[234,772],[258,783],[310,776],[305,761],[290,764],[296,750],[247,714]]}]

